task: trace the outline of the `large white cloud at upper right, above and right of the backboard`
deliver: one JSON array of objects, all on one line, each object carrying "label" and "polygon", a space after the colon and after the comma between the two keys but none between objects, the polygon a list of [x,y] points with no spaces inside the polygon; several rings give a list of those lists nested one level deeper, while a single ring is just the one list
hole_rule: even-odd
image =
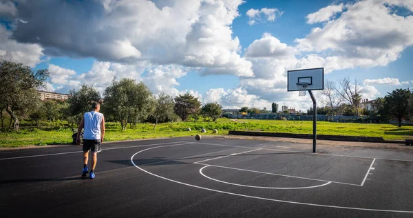
[{"label": "large white cloud at upper right, above and right of the backboard", "polygon": [[336,69],[386,66],[413,45],[413,29],[409,28],[413,16],[394,14],[389,6],[403,6],[403,2],[349,3],[339,18],[313,28],[304,39],[296,39],[297,49],[304,54],[321,53],[326,65],[334,61]]}]

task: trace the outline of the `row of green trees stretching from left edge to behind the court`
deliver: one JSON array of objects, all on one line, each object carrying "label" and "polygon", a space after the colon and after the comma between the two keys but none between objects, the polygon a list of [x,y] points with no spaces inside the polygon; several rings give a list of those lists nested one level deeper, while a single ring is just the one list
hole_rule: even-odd
[{"label": "row of green trees stretching from left edge to behind the court", "polygon": [[[41,101],[36,89],[45,86],[49,77],[47,69],[32,70],[28,66],[12,61],[0,63],[0,123],[1,129],[19,130],[21,119],[40,126],[41,121],[65,120],[75,125],[83,114],[90,110],[92,101],[101,103],[101,111],[107,121],[120,123],[122,130],[136,123],[165,123],[186,121],[189,117],[216,121],[222,113],[219,103],[205,103],[189,94],[172,97],[165,93],[153,95],[142,81],[134,79],[112,80],[103,96],[93,86],[83,85],[70,90],[67,101]],[[7,126],[6,117],[10,118]],[[6,125],[5,125],[6,124]]]}]

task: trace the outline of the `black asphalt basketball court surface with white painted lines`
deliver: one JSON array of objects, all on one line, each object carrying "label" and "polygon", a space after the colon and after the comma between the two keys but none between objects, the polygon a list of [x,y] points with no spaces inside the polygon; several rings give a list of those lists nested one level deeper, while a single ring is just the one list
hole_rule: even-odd
[{"label": "black asphalt basketball court surface with white painted lines", "polygon": [[339,143],[103,143],[96,179],[81,146],[1,150],[1,217],[413,217],[413,150]]}]

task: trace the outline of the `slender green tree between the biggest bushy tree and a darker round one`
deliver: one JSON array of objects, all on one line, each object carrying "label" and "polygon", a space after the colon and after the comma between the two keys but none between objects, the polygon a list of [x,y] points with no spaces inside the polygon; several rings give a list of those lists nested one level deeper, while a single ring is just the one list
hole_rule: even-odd
[{"label": "slender green tree between the biggest bushy tree and a darker round one", "polygon": [[173,106],[175,106],[173,97],[165,94],[164,92],[161,92],[158,95],[156,98],[155,110],[151,115],[151,118],[155,122],[153,130],[155,130],[158,123],[165,123],[175,119],[176,115],[173,113]]}]

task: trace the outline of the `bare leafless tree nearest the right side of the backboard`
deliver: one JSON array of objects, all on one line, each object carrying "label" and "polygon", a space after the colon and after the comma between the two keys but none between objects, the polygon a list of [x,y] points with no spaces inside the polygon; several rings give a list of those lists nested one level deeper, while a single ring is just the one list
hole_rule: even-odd
[{"label": "bare leafless tree nearest the right side of the backboard", "polygon": [[337,115],[337,107],[343,102],[343,97],[337,92],[334,81],[326,81],[324,90],[321,90],[321,101],[330,108],[330,115]]}]

